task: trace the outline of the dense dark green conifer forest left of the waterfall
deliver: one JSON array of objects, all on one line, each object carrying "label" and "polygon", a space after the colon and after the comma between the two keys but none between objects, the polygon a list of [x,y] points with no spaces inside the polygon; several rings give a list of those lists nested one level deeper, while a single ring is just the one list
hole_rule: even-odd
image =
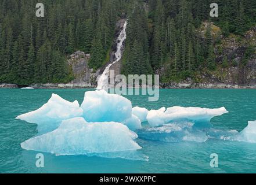
[{"label": "dense dark green conifer forest left of the waterfall", "polygon": [[42,0],[44,17],[35,16],[37,0],[0,1],[0,82],[30,84],[72,79],[66,56],[91,53],[99,68],[111,47],[124,0]]}]

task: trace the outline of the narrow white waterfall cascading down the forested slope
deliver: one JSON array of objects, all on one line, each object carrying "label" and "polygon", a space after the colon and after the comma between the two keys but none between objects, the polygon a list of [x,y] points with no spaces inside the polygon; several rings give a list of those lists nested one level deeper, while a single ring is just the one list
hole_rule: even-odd
[{"label": "narrow white waterfall cascading down the forested slope", "polygon": [[102,75],[99,77],[97,90],[109,89],[109,69],[111,65],[120,61],[122,58],[122,49],[124,48],[123,43],[124,43],[124,40],[126,39],[126,27],[127,27],[127,21],[125,21],[124,28],[122,29],[122,31],[120,32],[120,35],[117,38],[117,51],[115,53],[116,60],[113,63],[109,64],[104,70],[104,72],[102,73]]}]

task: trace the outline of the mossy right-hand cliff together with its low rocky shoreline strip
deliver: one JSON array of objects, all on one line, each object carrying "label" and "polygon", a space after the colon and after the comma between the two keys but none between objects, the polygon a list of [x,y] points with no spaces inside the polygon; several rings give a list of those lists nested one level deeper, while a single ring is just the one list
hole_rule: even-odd
[{"label": "mossy right-hand cliff together with its low rocky shoreline strip", "polygon": [[[213,25],[212,28],[218,31]],[[162,88],[256,88],[256,53],[250,54],[244,62],[250,47],[256,48],[256,27],[241,38],[235,35],[222,38],[222,43],[215,47],[217,71],[201,72],[198,82],[187,79],[179,83],[161,83],[160,86]],[[227,67],[222,66],[225,56],[228,58]],[[163,72],[164,67],[158,69],[156,73],[161,75]]]}]

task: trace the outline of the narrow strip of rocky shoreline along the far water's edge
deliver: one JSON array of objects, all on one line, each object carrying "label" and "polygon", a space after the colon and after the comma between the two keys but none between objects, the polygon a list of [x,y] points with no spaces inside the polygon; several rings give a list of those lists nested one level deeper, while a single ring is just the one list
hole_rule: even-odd
[{"label": "narrow strip of rocky shoreline along the far water's edge", "polygon": [[[17,84],[0,83],[0,88],[23,88],[31,87],[35,89],[95,89],[96,86],[84,83],[68,83],[68,84],[31,84],[30,86],[19,86]],[[170,83],[160,84],[160,89],[256,89],[256,84],[252,86],[225,84],[225,83]]]}]

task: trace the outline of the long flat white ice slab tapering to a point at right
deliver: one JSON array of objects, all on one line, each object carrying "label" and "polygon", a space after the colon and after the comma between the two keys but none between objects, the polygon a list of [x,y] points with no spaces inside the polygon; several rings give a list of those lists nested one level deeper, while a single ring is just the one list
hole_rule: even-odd
[{"label": "long flat white ice slab tapering to a point at right", "polygon": [[172,108],[168,108],[166,111],[164,108],[160,110],[150,110],[147,114],[147,121],[152,127],[158,127],[172,121],[210,121],[213,117],[221,116],[224,113],[228,113],[225,108],[206,109],[182,108],[179,106],[175,106]]}]

